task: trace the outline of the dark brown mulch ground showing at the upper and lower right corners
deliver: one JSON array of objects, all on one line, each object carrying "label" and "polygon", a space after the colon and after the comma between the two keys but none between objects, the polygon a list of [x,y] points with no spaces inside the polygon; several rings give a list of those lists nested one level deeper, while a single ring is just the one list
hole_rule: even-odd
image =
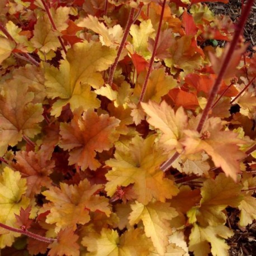
[{"label": "dark brown mulch ground showing at the upper and lower right corners", "polygon": [[[208,3],[208,6],[210,6],[211,10],[214,11],[215,14],[227,15],[234,22],[238,22],[243,8],[242,2],[244,2],[245,7],[246,1],[241,0],[230,0],[228,4]],[[256,46],[256,2],[254,2],[249,20],[246,22],[244,38],[246,42],[250,42],[248,51],[253,53],[253,51],[255,51],[255,49],[253,50],[253,47]],[[234,231],[234,236],[228,241],[230,245],[229,253],[231,256],[255,256],[256,222],[253,222],[253,224],[246,227],[241,227],[238,224],[238,215],[239,211],[234,208],[229,208],[227,210],[227,225]]]}]

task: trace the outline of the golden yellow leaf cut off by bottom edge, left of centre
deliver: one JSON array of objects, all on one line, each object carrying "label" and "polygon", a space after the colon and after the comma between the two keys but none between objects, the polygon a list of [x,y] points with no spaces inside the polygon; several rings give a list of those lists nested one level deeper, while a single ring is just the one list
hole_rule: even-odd
[{"label": "golden yellow leaf cut off by bottom edge, left of centre", "polygon": [[129,229],[119,238],[116,230],[102,229],[99,237],[86,236],[82,245],[95,256],[146,256],[152,248],[143,230]]}]

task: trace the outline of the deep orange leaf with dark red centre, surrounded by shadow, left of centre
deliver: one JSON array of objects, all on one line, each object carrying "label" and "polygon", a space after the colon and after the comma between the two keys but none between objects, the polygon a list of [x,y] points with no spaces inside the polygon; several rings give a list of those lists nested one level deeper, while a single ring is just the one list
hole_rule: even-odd
[{"label": "deep orange leaf with dark red centre, surrounded by shadow, left of centre", "polygon": [[118,139],[116,127],[120,120],[108,115],[98,116],[92,109],[81,116],[74,112],[70,122],[60,124],[60,147],[69,150],[69,164],[78,164],[82,170],[96,170],[101,164],[96,160],[96,151],[111,148]]}]

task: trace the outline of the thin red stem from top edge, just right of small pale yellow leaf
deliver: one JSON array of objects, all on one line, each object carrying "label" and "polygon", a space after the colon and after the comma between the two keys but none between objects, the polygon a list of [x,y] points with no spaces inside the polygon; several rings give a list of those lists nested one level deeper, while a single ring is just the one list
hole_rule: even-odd
[{"label": "thin red stem from top edge, just right of small pale yellow leaf", "polygon": [[151,73],[151,69],[153,67],[155,54],[157,54],[157,45],[158,45],[158,41],[159,41],[159,37],[160,37],[160,31],[161,31],[161,27],[162,27],[162,23],[163,23],[165,3],[166,3],[166,0],[163,1],[162,11],[161,11],[161,15],[160,15],[158,30],[157,30],[157,36],[155,36],[155,44],[154,44],[154,48],[153,48],[153,53],[152,53],[151,59],[149,61],[149,69],[148,69],[148,72],[146,73],[144,84],[143,84],[143,87],[141,89],[139,102],[143,101],[143,98],[144,98],[144,95],[145,95],[145,92],[146,92],[146,86],[148,85],[149,76],[150,76],[150,73]]}]

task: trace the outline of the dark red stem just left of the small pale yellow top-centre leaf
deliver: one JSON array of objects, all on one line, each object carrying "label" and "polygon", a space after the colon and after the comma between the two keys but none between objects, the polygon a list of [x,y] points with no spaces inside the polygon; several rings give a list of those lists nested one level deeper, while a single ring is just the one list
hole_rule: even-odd
[{"label": "dark red stem just left of the small pale yellow top-centre leaf", "polygon": [[135,13],[135,9],[131,8],[130,14],[129,14],[129,18],[128,18],[128,21],[126,23],[124,36],[122,37],[121,44],[120,44],[120,46],[118,48],[118,51],[117,51],[116,59],[115,59],[113,65],[110,68],[110,76],[108,77],[108,84],[110,86],[113,83],[113,77],[114,77],[114,74],[115,74],[115,71],[116,71],[117,63],[118,63],[118,61],[120,59],[122,50],[125,48],[125,42],[126,42],[127,37],[129,35],[129,31],[130,31],[131,25],[135,22],[135,20],[134,20],[134,13]]}]

